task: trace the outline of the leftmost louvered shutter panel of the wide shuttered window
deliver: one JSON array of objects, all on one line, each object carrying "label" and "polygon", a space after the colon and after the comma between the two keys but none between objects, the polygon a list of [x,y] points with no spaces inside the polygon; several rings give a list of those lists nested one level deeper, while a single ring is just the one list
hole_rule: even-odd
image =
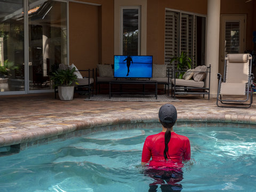
[{"label": "leftmost louvered shutter panel of the wide shuttered window", "polygon": [[167,68],[172,70],[170,58],[179,55],[179,13],[165,11],[165,59]]}]

